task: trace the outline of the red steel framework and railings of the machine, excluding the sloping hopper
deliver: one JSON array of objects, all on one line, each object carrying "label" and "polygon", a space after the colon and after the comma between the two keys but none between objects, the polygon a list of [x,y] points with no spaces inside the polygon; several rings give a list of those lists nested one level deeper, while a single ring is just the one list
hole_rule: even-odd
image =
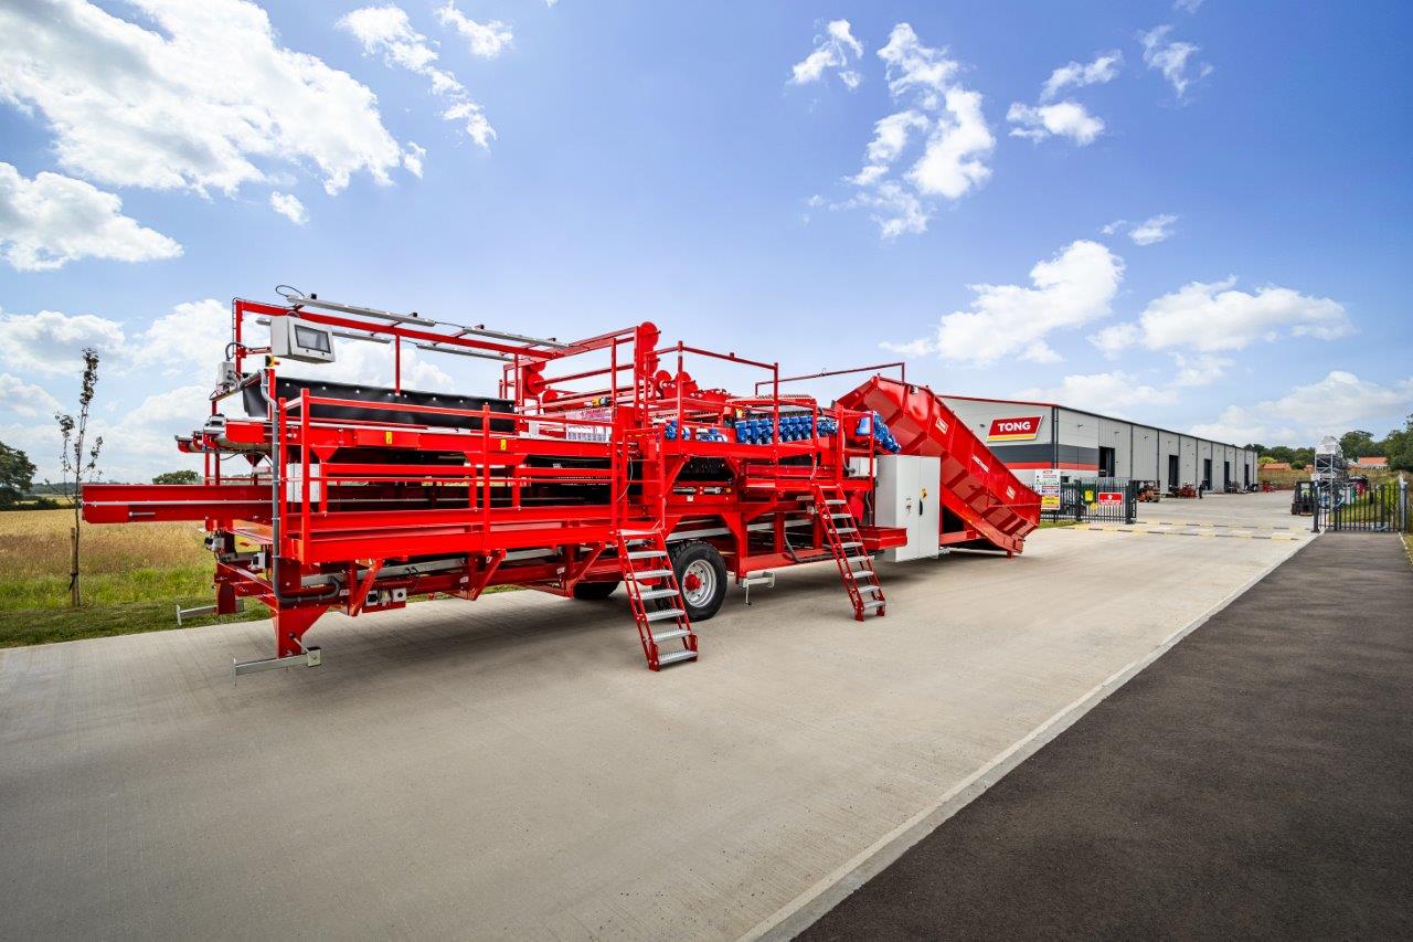
[{"label": "red steel framework and railings of the machine, excluding the sloping hopper", "polygon": [[[387,338],[397,392],[404,342],[503,356],[500,393],[513,402],[513,412],[349,400],[308,389],[295,399],[276,399],[278,364],[268,349],[244,341],[244,321],[292,314]],[[85,519],[203,521],[216,556],[216,611],[233,612],[239,598],[267,605],[278,656],[285,658],[304,651],[304,634],[331,608],[357,615],[400,608],[404,595],[473,600],[497,584],[571,595],[579,583],[616,581],[619,560],[605,550],[625,529],[704,539],[736,577],[829,560],[810,498],[814,487],[838,487],[856,506],[872,491],[873,443],[852,434],[869,413],[783,396],[779,364],[682,342],[661,345],[650,322],[565,345],[504,342],[434,327],[411,318],[386,322],[329,314],[298,303],[236,300],[236,373],[270,392],[271,414],[225,417],[179,440],[182,450],[203,455],[202,484],[86,487]],[[574,358],[595,352],[606,355],[606,366],[561,372]],[[260,355],[263,365],[243,373],[246,362]],[[688,358],[766,371],[770,378],[752,396],[702,389],[685,369]],[[551,368],[555,375],[547,375]],[[762,395],[767,383],[769,393]],[[389,416],[317,414],[336,406]],[[218,409],[213,400],[212,416]],[[835,419],[838,434],[736,441],[733,417],[769,416],[779,429],[783,412],[811,414],[812,427],[821,417]],[[455,416],[466,427],[439,427],[417,416]],[[675,421],[675,437],[664,434],[668,420]],[[571,429],[591,440],[571,438]],[[697,430],[704,429],[723,430],[726,440],[698,440]],[[692,437],[682,430],[692,430]],[[349,448],[363,457],[341,460]],[[366,460],[379,450],[400,460]],[[408,453],[428,460],[408,464]],[[223,464],[232,455],[250,458],[252,470],[227,474]],[[462,461],[447,464],[445,455]],[[589,463],[547,463],[555,458]],[[718,458],[729,474],[684,478],[694,458]],[[851,460],[862,460],[868,474],[851,475]],[[608,499],[592,496],[605,485]],[[547,499],[547,489],[557,496]],[[862,530],[869,549],[903,539],[899,530]]]}]

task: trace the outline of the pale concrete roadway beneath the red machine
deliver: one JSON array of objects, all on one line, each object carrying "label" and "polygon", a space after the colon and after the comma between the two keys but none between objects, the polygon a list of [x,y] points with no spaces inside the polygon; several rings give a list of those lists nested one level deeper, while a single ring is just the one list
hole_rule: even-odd
[{"label": "pale concrete roadway beneath the red machine", "polygon": [[239,682],[268,622],[3,651],[0,935],[781,931],[1308,539],[1282,536],[1046,530],[880,566],[865,624],[832,566],[784,571],[661,673],[622,595],[531,591],[326,617],[322,668]]}]

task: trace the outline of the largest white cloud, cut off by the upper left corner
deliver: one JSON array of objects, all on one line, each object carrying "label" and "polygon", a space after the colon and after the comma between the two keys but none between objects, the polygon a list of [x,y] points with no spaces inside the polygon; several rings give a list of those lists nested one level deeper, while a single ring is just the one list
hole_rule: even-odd
[{"label": "largest white cloud, cut off by the upper left corner", "polygon": [[59,164],[117,187],[219,190],[312,164],[326,191],[389,182],[397,141],[348,74],[276,41],[244,0],[0,6],[0,99],[42,115]]}]

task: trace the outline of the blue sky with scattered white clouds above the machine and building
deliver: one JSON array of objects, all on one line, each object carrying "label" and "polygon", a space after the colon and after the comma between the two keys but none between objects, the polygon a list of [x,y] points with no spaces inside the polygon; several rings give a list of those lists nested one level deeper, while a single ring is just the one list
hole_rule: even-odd
[{"label": "blue sky with scattered white clouds above the machine and building", "polygon": [[[0,441],[58,474],[92,345],[105,477],[196,467],[171,437],[230,298],[277,284],[1382,436],[1413,412],[1410,40],[1372,1],[0,0]],[[390,378],[339,358],[311,369]]]}]

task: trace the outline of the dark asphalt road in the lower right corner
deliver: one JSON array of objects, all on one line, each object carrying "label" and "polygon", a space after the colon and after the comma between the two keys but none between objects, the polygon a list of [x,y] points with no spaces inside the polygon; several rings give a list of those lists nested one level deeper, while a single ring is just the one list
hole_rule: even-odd
[{"label": "dark asphalt road in the lower right corner", "polygon": [[800,938],[1413,938],[1413,570],[1325,535]]}]

